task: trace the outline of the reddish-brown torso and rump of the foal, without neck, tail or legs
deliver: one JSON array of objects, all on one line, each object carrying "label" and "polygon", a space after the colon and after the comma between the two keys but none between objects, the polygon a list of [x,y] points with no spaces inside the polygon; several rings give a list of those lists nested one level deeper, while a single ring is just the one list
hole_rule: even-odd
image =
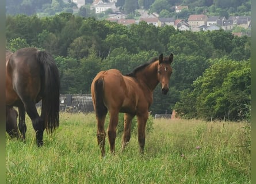
[{"label": "reddish-brown torso and rump of the foal, without neck, tail or legs", "polygon": [[99,72],[91,85],[91,93],[95,104],[97,87],[95,82],[102,80],[102,97],[106,108],[119,112],[135,114],[139,100],[142,101],[144,94],[135,78],[124,76],[119,70],[111,69]]}]

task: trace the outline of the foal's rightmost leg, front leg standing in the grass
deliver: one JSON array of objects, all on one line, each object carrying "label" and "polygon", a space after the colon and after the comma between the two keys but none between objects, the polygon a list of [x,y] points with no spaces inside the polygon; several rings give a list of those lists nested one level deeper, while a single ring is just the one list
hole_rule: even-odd
[{"label": "foal's rightmost leg, front leg standing in the grass", "polygon": [[146,129],[146,123],[148,119],[148,113],[144,113],[142,115],[137,116],[137,127],[138,127],[138,141],[140,146],[140,152],[144,153],[144,145],[145,145],[145,129]]}]

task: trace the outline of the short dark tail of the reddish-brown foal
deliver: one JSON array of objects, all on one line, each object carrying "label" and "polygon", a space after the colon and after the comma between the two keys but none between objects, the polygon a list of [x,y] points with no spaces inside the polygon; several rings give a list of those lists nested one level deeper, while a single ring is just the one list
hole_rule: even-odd
[{"label": "short dark tail of the reddish-brown foal", "polygon": [[104,95],[104,81],[102,78],[97,79],[94,83],[94,92],[95,92],[95,113],[98,118],[102,118],[106,115],[108,112],[108,109],[106,108],[104,101],[103,101],[103,95]]}]

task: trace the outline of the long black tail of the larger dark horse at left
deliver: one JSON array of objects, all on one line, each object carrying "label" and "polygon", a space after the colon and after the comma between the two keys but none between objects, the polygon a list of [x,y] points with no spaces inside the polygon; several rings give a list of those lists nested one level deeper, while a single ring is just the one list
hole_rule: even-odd
[{"label": "long black tail of the larger dark horse at left", "polygon": [[43,66],[41,117],[44,120],[47,132],[52,133],[56,127],[59,127],[59,70],[54,58],[45,51],[37,52],[37,60]]}]

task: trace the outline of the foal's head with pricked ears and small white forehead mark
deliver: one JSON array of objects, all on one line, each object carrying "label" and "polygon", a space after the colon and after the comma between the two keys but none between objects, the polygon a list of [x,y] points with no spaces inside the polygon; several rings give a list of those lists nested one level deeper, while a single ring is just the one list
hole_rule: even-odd
[{"label": "foal's head with pricked ears and small white forehead mark", "polygon": [[169,91],[169,81],[173,69],[170,64],[173,62],[173,53],[169,57],[163,57],[163,54],[158,59],[158,81],[162,85],[162,93],[167,94]]}]

